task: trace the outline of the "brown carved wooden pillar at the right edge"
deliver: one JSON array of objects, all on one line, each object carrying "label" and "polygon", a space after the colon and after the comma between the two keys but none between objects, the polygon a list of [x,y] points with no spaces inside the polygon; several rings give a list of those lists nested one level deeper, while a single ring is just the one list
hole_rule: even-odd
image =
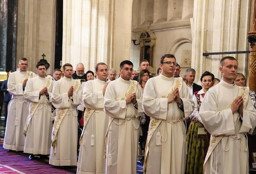
[{"label": "brown carved wooden pillar at the right edge", "polygon": [[[248,41],[251,46],[249,88],[256,91],[256,0],[254,0],[251,30],[248,32]],[[248,80],[247,80],[248,81]]]}]

